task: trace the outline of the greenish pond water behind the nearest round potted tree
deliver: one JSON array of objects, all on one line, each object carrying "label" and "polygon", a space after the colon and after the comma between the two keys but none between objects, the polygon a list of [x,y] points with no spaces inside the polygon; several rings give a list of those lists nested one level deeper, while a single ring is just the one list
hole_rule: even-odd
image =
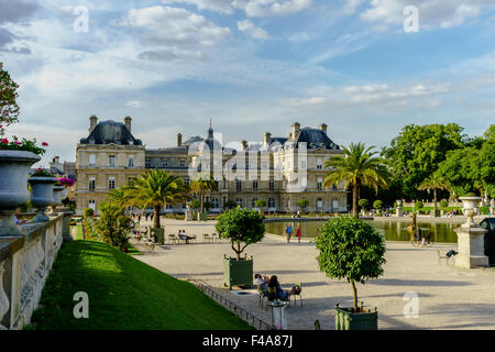
[{"label": "greenish pond water behind the nearest round potted tree", "polygon": [[[316,238],[318,235],[317,229],[320,228],[324,221],[315,220],[315,221],[273,221],[265,222],[266,232],[273,234],[285,235],[285,227],[292,222],[293,228],[297,229],[297,226],[300,226],[301,237],[302,238]],[[385,235],[387,241],[409,241],[410,234],[407,232],[407,226],[409,224],[409,220],[399,221],[399,220],[366,220],[372,227],[378,230],[381,233]],[[444,242],[444,243],[457,243],[458,235],[453,231],[459,228],[461,222],[425,222],[418,221],[417,224],[421,228],[421,232],[424,235],[431,235],[433,242]],[[296,230],[294,230],[294,234]],[[293,234],[293,235],[294,235]]]}]

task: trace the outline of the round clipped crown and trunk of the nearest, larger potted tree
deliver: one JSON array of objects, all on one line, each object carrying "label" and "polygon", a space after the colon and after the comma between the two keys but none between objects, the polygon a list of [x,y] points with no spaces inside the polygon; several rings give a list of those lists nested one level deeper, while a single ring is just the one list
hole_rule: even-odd
[{"label": "round clipped crown and trunk of the nearest, larger potted tree", "polygon": [[345,278],[352,285],[354,312],[359,312],[355,283],[364,284],[383,274],[385,239],[371,224],[354,217],[331,219],[318,232],[320,271],[329,278]]}]

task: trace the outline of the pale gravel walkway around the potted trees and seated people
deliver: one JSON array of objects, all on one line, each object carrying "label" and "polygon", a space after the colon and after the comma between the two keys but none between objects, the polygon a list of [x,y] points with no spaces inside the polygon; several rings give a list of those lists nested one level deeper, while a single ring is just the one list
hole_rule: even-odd
[{"label": "pale gravel walkway around the potted trees and seated people", "polygon": [[[185,229],[188,234],[201,239],[205,232],[215,232],[213,222],[185,223],[165,220],[165,232],[177,233]],[[144,255],[139,258],[175,277],[194,277],[216,289],[249,310],[260,319],[271,322],[271,311],[258,307],[256,290],[237,295],[223,287],[223,255],[233,255],[229,243],[199,243],[164,245],[151,253],[139,246]],[[365,306],[378,308],[380,329],[495,329],[495,268],[458,270],[439,264],[437,250],[446,253],[455,245],[427,249],[413,248],[409,243],[387,242],[384,275],[366,285],[358,285],[359,300]],[[316,319],[321,329],[334,329],[336,304],[352,305],[352,288],[346,282],[329,279],[320,273],[315,245],[297,244],[266,235],[256,244],[249,245],[254,256],[254,272],[277,275],[282,286],[289,289],[293,283],[302,283],[302,304],[287,309],[290,329],[314,329]],[[442,261],[443,262],[443,261]],[[407,318],[404,309],[406,293],[419,297],[419,316]]]}]

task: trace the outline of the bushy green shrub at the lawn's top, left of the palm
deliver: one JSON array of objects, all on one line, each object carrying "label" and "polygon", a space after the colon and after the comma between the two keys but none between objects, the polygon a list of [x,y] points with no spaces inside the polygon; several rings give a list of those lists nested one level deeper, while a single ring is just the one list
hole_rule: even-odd
[{"label": "bushy green shrub at the lawn's top, left of the palm", "polygon": [[101,235],[106,243],[124,249],[129,240],[131,224],[123,209],[105,201],[100,204],[99,209],[100,218],[96,223],[97,233]]}]

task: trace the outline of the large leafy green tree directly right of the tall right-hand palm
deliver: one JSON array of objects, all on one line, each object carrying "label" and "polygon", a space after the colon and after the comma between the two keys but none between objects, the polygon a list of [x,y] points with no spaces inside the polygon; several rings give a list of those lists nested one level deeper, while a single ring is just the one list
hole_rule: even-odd
[{"label": "large leafy green tree directly right of the tall right-hand palm", "polygon": [[383,156],[393,166],[393,178],[400,184],[402,195],[420,198],[418,190],[447,157],[449,151],[464,147],[466,136],[455,123],[406,125],[392,140]]}]

